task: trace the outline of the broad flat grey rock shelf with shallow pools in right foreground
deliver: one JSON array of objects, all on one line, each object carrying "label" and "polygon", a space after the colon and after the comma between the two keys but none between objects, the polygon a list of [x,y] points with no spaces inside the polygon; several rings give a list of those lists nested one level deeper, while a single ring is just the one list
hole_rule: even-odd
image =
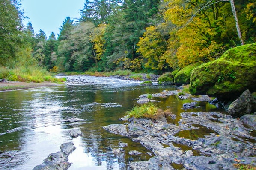
[{"label": "broad flat grey rock shelf with shallow pools in right foreground", "polygon": [[[182,112],[178,124],[167,122],[164,115],[156,120],[125,117],[122,120],[124,124],[103,128],[140,142],[155,155],[148,161],[131,162],[128,164],[131,170],[236,170],[241,164],[256,166],[255,129],[230,115]],[[124,149],[117,151],[122,153]],[[116,150],[113,153],[124,156]]]}]

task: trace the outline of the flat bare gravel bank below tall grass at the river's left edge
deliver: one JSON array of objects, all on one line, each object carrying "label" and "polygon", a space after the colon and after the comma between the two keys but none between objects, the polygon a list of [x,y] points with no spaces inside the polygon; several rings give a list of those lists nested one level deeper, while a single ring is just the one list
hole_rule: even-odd
[{"label": "flat bare gravel bank below tall grass at the river's left edge", "polygon": [[0,82],[0,91],[32,89],[32,88],[39,88],[39,87],[45,87],[45,86],[61,86],[61,85],[63,84],[53,83],[48,81],[44,81],[42,83],[6,81],[6,82]]}]

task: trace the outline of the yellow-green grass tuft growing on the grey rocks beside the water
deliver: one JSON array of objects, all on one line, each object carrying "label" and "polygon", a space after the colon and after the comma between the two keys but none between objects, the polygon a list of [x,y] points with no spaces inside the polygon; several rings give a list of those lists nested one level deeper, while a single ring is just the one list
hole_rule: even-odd
[{"label": "yellow-green grass tuft growing on the grey rocks beside the water", "polygon": [[154,119],[155,116],[158,114],[158,107],[154,104],[144,104],[141,106],[134,106],[131,111],[127,112],[128,118],[151,118]]}]

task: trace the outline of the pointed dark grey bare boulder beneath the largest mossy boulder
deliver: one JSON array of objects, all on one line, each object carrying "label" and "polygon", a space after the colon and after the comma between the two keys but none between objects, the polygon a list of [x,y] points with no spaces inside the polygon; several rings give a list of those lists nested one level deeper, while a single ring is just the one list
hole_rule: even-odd
[{"label": "pointed dark grey bare boulder beneath the largest mossy boulder", "polygon": [[249,90],[244,91],[239,98],[233,101],[228,108],[229,115],[240,117],[245,114],[250,114],[256,110],[256,101]]}]

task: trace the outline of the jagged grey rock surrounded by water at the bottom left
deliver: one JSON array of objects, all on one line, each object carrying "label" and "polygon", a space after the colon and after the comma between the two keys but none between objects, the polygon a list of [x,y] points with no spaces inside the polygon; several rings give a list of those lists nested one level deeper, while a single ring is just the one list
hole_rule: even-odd
[{"label": "jagged grey rock surrounded by water at the bottom left", "polygon": [[71,163],[68,162],[68,155],[75,150],[74,144],[68,142],[60,146],[61,151],[51,153],[42,164],[37,165],[33,170],[67,170]]}]

